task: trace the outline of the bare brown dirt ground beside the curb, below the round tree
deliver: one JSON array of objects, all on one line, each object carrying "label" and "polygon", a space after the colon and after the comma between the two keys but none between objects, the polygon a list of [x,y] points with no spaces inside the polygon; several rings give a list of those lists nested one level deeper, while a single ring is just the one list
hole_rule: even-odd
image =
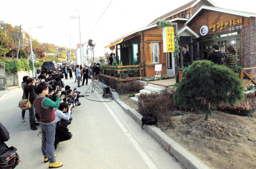
[{"label": "bare brown dirt ground beside the curb, below the round tree", "polygon": [[[136,107],[125,96],[120,100]],[[213,110],[206,122],[204,114],[176,114],[180,116],[170,117],[169,122],[158,127],[210,168],[256,169],[256,118]]]}]

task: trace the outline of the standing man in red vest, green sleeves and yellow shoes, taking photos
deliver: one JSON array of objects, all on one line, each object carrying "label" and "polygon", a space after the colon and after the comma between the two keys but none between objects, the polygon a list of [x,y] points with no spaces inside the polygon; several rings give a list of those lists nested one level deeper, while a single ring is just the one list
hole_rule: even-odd
[{"label": "standing man in red vest, green sleeves and yellow shoes, taking photos", "polygon": [[39,94],[34,101],[34,106],[40,116],[44,163],[49,161],[49,168],[61,167],[63,163],[56,161],[53,147],[55,141],[55,113],[53,108],[57,108],[60,105],[61,91],[56,96],[56,102],[53,102],[50,98],[46,98],[49,90],[47,83],[40,83],[36,90]]}]

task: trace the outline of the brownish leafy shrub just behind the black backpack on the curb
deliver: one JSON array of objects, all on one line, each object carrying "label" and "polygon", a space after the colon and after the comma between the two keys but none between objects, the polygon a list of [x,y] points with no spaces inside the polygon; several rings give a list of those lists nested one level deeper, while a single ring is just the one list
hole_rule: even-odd
[{"label": "brownish leafy shrub just behind the black backpack on the curb", "polygon": [[158,122],[163,124],[168,120],[169,114],[175,110],[173,92],[140,94],[138,96],[138,108],[142,115],[146,113],[155,114]]}]

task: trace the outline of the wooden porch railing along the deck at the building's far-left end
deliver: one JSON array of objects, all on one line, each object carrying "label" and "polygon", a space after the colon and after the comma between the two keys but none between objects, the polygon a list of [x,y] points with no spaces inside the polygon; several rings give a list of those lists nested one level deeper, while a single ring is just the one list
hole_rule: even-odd
[{"label": "wooden porch railing along the deck at the building's far-left end", "polygon": [[[106,73],[108,75],[108,71],[111,70],[111,71],[114,71],[114,77],[116,77],[118,71],[120,73],[120,77],[122,77],[122,72],[123,71],[136,71],[136,70],[139,70],[140,71],[140,77],[142,77],[142,70],[144,70],[144,66],[141,67],[141,65],[130,65],[130,66],[105,66],[103,65],[103,67],[106,67]],[[116,69],[109,69],[109,68],[116,68]],[[140,67],[140,68],[136,68],[136,69],[127,69],[127,68],[130,68],[130,67]],[[126,68],[126,69],[125,69]],[[103,69],[102,69],[103,71]]]}]

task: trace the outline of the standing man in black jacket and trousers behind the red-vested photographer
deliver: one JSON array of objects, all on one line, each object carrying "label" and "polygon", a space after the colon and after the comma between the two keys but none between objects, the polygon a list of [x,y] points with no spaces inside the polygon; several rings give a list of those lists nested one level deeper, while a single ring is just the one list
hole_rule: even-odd
[{"label": "standing man in black jacket and trousers behind the red-vested photographer", "polygon": [[30,128],[31,130],[37,130],[36,126],[39,125],[39,123],[35,122],[36,109],[34,107],[34,100],[37,98],[35,90],[36,79],[28,78],[26,83],[27,85],[24,86],[24,92],[26,98],[28,98],[29,95],[29,101],[31,103],[31,108],[29,109]]}]

